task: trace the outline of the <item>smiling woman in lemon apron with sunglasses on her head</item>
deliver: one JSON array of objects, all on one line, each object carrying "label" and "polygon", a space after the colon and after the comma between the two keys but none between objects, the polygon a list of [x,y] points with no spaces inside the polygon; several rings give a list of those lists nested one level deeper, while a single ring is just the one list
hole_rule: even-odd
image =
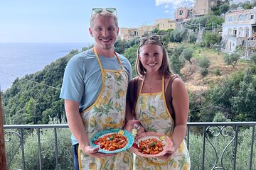
[{"label": "smiling woman in lemon apron with sunglasses on her head", "polygon": [[[181,78],[171,72],[159,35],[142,38],[137,54],[138,77],[132,79],[129,86],[130,102],[136,102],[128,113],[140,121],[141,129],[165,134],[171,138],[173,145],[158,158],[137,156],[136,169],[190,169],[184,141],[189,108],[186,87]],[[133,94],[136,94],[134,99]],[[134,120],[129,120],[126,125],[129,128],[126,129],[131,129],[133,124]]]}]

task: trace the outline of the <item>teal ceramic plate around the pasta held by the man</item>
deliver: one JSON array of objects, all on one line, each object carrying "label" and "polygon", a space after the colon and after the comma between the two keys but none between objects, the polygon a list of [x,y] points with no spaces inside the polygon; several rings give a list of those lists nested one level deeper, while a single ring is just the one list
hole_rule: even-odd
[{"label": "teal ceramic plate around the pasta held by the man", "polygon": [[98,152],[104,153],[104,154],[114,154],[114,153],[122,152],[126,149],[129,149],[130,147],[132,147],[132,144],[134,143],[134,137],[131,132],[128,132],[127,130],[119,130],[119,129],[107,129],[107,130],[102,130],[100,132],[97,132],[90,139],[90,145],[91,145],[91,147],[100,147],[99,145],[95,144],[95,143],[97,143],[95,141],[97,141],[97,139],[99,137],[103,137],[105,135],[112,134],[112,133],[120,133],[120,132],[121,132],[121,134],[123,134],[124,136],[127,137],[128,142],[127,142],[127,145],[125,145],[125,147],[123,147],[121,149],[114,150],[114,151],[100,149]]}]

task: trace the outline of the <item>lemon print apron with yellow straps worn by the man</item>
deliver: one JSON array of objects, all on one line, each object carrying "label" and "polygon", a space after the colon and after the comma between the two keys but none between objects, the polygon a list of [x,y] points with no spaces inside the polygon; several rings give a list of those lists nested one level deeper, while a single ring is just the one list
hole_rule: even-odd
[{"label": "lemon print apron with yellow straps worn by the man", "polygon": [[[85,111],[81,116],[85,127],[85,132],[90,140],[92,135],[104,129],[122,129],[125,120],[125,105],[128,86],[128,77],[120,64],[120,70],[107,70],[102,68],[100,58],[97,55],[95,47],[93,51],[97,57],[102,74],[102,89],[95,103]],[[132,170],[132,153],[124,151],[113,157],[94,158],[83,154],[78,148],[78,162],[81,169],[127,169]]]}]

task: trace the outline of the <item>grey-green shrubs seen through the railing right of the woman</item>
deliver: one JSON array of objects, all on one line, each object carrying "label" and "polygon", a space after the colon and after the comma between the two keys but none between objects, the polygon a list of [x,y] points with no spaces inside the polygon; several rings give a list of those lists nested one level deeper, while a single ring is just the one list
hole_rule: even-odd
[{"label": "grey-green shrubs seen through the railing right of the woman", "polygon": [[[213,169],[215,163],[216,166],[222,166],[220,163],[223,163],[224,169],[233,169],[235,140],[232,140],[232,138],[235,135],[235,131],[232,130],[230,132],[230,129],[233,129],[230,126],[226,128],[228,128],[228,131],[225,131],[225,128],[220,131],[221,127],[213,128],[215,132],[211,131],[211,128],[209,129],[210,133],[207,135],[208,140],[206,140],[205,147],[204,169]],[[230,134],[228,135],[225,132],[230,132]],[[249,165],[251,137],[252,128],[239,131],[236,169],[245,169],[245,167],[248,167]],[[229,142],[230,145],[228,145]],[[253,148],[255,147],[256,142],[254,142]],[[198,132],[190,132],[188,152],[191,157],[191,169],[203,169],[203,135]],[[218,158],[216,157],[216,154]],[[252,169],[255,169],[256,167],[256,162],[253,161],[255,160],[255,157],[256,152],[254,151],[252,154]]]}]

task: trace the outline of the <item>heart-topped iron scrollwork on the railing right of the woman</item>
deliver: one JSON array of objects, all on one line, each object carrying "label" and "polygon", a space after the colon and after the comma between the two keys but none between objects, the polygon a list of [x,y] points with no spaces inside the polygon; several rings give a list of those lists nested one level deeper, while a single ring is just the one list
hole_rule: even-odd
[{"label": "heart-topped iron scrollwork on the railing right of the woman", "polygon": [[[208,128],[206,128],[206,140],[210,143],[210,146],[213,147],[213,151],[215,154],[215,162],[213,164],[212,170],[213,169],[225,169],[225,167],[223,166],[223,157],[225,152],[227,151],[228,147],[231,145],[232,142],[234,142],[235,140],[235,130],[234,127],[232,126],[218,126],[218,125],[214,125],[214,126],[208,126]],[[218,152],[216,150],[216,147],[213,145],[213,142],[211,142],[211,139],[213,139],[214,137],[232,137],[228,142],[227,145],[225,145],[224,149],[222,150],[221,154],[220,154],[220,166],[217,166],[218,164]]]}]

